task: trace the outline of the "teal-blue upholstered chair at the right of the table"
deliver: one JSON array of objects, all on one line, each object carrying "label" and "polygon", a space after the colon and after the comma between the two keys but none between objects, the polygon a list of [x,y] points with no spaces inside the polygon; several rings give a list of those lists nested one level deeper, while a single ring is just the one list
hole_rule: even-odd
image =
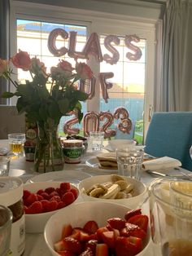
[{"label": "teal-blue upholstered chair at the right of the table", "polygon": [[192,112],[154,113],[146,134],[145,152],[154,157],[173,157],[192,171]]}]

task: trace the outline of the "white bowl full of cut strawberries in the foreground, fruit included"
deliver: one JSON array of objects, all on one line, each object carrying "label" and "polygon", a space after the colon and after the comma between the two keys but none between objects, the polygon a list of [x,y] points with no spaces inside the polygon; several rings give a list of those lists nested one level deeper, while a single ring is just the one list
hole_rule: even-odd
[{"label": "white bowl full of cut strawberries in the foreground, fruit included", "polygon": [[148,216],[110,202],[78,202],[46,223],[44,237],[53,256],[134,256],[147,253]]}]

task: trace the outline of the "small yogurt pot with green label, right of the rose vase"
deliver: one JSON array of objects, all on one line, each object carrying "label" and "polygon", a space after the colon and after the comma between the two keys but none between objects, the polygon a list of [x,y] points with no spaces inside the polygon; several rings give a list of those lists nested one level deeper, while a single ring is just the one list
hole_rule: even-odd
[{"label": "small yogurt pot with green label, right of the rose vase", "polygon": [[83,141],[80,139],[63,140],[63,156],[68,164],[78,164],[81,162],[81,155],[84,149]]}]

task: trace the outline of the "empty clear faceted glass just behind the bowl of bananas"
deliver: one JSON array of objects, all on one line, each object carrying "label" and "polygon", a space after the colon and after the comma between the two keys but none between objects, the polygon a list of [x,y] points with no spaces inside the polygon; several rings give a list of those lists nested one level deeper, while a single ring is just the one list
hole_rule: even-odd
[{"label": "empty clear faceted glass just behind the bowl of bananas", "polygon": [[119,148],[116,150],[116,161],[120,175],[140,179],[144,151],[142,149]]}]

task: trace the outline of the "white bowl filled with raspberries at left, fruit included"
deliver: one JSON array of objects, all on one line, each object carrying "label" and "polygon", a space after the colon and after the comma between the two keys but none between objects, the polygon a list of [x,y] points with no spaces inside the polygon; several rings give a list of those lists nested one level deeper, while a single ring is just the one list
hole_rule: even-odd
[{"label": "white bowl filled with raspberries at left, fruit included", "polygon": [[41,233],[47,220],[79,196],[79,190],[68,182],[37,182],[24,184],[25,229],[27,233]]}]

